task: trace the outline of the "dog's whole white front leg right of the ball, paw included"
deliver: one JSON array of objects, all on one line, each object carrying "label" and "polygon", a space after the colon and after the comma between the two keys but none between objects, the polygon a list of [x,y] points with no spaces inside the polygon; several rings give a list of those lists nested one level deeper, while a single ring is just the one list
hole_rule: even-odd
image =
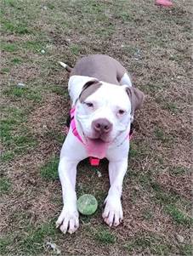
[{"label": "dog's whole white front leg right of the ball, paw included", "polygon": [[122,181],[128,168],[128,157],[118,162],[109,162],[110,190],[105,199],[103,219],[109,226],[117,226],[122,222]]}]

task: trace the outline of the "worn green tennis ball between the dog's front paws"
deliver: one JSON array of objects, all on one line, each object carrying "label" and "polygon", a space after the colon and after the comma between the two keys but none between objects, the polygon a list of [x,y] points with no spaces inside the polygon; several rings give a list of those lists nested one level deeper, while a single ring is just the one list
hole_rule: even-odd
[{"label": "worn green tennis ball between the dog's front paws", "polygon": [[78,198],[77,209],[83,215],[91,215],[95,213],[98,208],[98,202],[92,195],[85,194]]}]

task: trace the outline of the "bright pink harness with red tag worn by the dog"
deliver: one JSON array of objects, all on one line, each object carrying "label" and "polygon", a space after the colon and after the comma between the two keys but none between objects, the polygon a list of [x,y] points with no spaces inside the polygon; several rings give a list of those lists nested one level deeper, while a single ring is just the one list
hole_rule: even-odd
[{"label": "bright pink harness with red tag worn by the dog", "polygon": [[[75,135],[75,137],[77,137],[77,139],[79,139],[82,144],[83,141],[82,141],[82,138],[81,136],[78,134],[77,132],[77,127],[76,127],[76,122],[75,122],[75,118],[74,118],[74,115],[75,115],[75,107],[73,107],[70,111],[70,114],[71,114],[71,130],[72,130],[72,133]],[[131,129],[130,133],[128,134],[128,139],[132,139],[132,135],[133,135],[133,130]],[[92,166],[98,166],[99,165],[99,158],[96,158],[96,157],[93,157],[93,156],[89,156],[89,162]]]}]

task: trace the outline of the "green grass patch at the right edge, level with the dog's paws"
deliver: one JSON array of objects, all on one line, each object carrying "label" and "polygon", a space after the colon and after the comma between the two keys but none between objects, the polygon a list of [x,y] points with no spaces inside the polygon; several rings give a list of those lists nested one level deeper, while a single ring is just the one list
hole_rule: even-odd
[{"label": "green grass patch at the right edge, level with the dog's paws", "polygon": [[179,225],[192,225],[193,219],[187,216],[185,213],[180,211],[175,205],[170,204],[165,206],[165,211],[168,215],[171,216],[173,221]]}]

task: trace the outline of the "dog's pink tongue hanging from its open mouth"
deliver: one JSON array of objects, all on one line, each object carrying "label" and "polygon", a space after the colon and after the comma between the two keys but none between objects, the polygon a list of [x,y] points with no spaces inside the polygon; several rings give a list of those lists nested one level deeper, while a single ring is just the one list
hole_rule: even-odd
[{"label": "dog's pink tongue hanging from its open mouth", "polygon": [[100,159],[104,158],[109,145],[110,142],[105,141],[104,139],[87,138],[86,149],[88,151],[88,156],[94,156]]}]

